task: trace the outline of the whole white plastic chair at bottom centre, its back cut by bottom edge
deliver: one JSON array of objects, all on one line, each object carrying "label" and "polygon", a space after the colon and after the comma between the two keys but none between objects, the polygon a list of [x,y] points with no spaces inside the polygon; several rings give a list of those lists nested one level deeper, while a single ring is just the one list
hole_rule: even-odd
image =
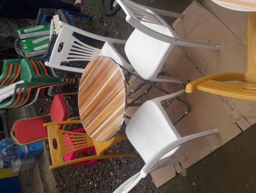
[{"label": "whole white plastic chair at bottom centre, its back cut by bottom edge", "polygon": [[170,159],[180,145],[219,132],[218,129],[213,129],[186,137],[179,135],[161,101],[178,97],[184,92],[185,90],[180,90],[148,100],[135,112],[126,127],[126,135],[146,164],[139,173],[124,182],[114,193],[128,193],[148,173],[184,159],[184,156]]}]

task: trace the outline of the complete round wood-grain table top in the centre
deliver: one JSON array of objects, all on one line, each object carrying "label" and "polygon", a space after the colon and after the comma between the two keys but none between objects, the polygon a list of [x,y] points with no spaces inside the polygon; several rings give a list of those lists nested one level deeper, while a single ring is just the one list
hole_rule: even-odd
[{"label": "complete round wood-grain table top in the centre", "polygon": [[91,60],[82,75],[78,106],[87,134],[110,140],[121,128],[127,106],[126,84],[120,67],[109,57]]}]

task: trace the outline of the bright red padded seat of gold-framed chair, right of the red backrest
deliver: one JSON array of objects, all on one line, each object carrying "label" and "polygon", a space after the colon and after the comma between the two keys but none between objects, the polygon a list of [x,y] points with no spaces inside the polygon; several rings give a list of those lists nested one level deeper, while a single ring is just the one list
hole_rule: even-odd
[{"label": "bright red padded seat of gold-framed chair, right of the red backrest", "polygon": [[[50,113],[52,122],[66,121],[68,119],[68,109],[63,97],[60,94],[54,96]],[[58,128],[62,129],[63,125],[58,125]]]}]

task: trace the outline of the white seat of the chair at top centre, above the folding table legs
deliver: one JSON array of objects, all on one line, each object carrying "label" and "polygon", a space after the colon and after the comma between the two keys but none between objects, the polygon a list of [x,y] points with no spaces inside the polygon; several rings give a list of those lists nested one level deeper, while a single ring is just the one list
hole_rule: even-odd
[{"label": "white seat of the chair at top centre, above the folding table legs", "polygon": [[157,77],[174,46],[135,29],[126,42],[125,53],[142,78],[155,81],[152,78]]}]

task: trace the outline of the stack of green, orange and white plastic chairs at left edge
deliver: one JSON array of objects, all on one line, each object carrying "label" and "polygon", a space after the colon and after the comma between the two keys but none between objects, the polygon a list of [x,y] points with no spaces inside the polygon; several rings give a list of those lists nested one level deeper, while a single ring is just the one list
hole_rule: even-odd
[{"label": "stack of green, orange and white plastic chairs at left edge", "polygon": [[[0,108],[16,108],[32,104],[37,97],[52,98],[52,86],[79,83],[79,79],[60,78],[41,61],[28,59],[5,60],[0,76]],[[22,81],[22,83],[18,83]],[[15,85],[10,97],[3,97],[6,86]]]}]

